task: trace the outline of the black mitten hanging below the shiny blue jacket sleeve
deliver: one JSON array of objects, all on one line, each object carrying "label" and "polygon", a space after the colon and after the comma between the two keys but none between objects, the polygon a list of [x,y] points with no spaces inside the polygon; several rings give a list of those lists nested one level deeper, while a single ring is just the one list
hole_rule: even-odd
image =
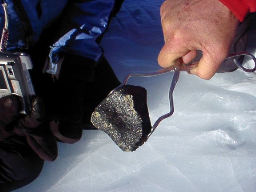
[{"label": "black mitten hanging below the shiny blue jacket sleeve", "polygon": [[[43,97],[51,130],[60,141],[74,143],[82,137],[83,95],[86,82],[94,80],[96,62],[64,53],[60,74]],[[47,74],[46,74],[47,75]]]}]

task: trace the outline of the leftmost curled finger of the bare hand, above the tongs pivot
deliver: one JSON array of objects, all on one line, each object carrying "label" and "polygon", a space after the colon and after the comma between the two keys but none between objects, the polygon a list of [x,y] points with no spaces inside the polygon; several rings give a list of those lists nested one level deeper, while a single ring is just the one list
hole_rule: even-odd
[{"label": "leftmost curled finger of the bare hand, above the tongs pivot", "polygon": [[158,55],[158,64],[161,67],[168,67],[174,65],[174,60],[184,56],[188,51],[186,47],[175,46],[170,40],[162,47]]}]

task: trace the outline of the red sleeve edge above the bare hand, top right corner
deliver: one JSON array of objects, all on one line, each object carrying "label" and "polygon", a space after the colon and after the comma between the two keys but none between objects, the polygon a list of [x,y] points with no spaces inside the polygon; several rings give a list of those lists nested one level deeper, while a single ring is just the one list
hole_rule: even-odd
[{"label": "red sleeve edge above the bare hand, top right corner", "polygon": [[256,0],[219,0],[240,20],[243,21],[246,14],[256,12]]}]

